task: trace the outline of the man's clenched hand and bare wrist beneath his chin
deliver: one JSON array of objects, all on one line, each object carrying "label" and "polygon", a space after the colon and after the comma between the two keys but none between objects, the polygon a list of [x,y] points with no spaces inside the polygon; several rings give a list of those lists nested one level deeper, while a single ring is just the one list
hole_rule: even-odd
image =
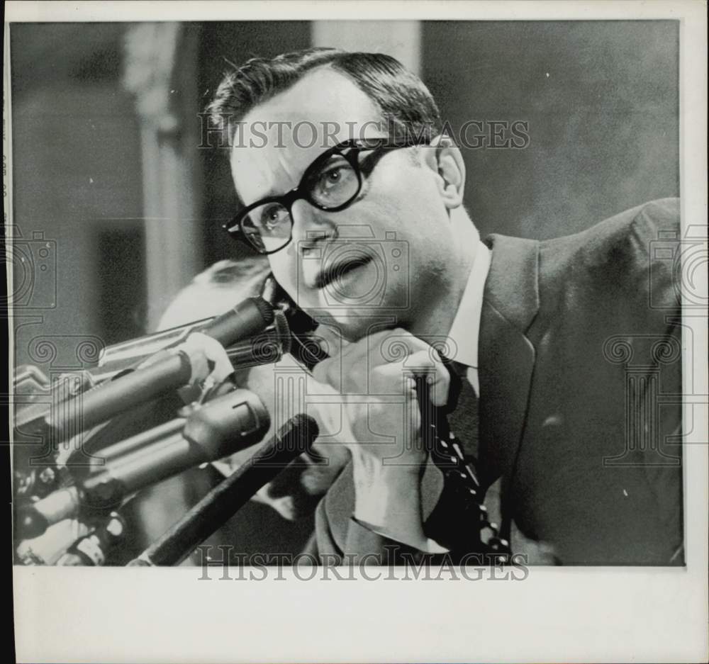
[{"label": "man's clenched hand and bare wrist beneath his chin", "polygon": [[437,351],[401,329],[360,339],[313,371],[342,395],[352,434],[354,517],[407,542],[423,538],[420,476],[428,456],[414,376],[428,377],[433,405],[447,403],[450,377]]}]

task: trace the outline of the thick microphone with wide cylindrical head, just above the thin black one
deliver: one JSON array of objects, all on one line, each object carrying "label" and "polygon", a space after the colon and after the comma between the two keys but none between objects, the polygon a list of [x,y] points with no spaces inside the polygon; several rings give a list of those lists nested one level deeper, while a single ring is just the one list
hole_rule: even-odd
[{"label": "thick microphone with wide cylindrical head, just above the thin black one", "polygon": [[[182,431],[176,422],[184,422]],[[96,453],[105,459],[100,470],[18,510],[18,536],[36,537],[82,510],[116,507],[135,491],[250,447],[269,426],[269,413],[257,395],[233,390],[197,407],[186,420],[158,427],[167,434],[163,437],[139,434]]]}]

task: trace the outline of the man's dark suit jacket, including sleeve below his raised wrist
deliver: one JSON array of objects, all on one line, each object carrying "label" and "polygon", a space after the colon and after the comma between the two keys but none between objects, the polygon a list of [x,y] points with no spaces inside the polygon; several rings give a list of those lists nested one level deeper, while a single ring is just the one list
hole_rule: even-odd
[{"label": "man's dark suit jacket, including sleeve below his raised wrist", "polygon": [[[683,564],[679,237],[664,199],[569,237],[486,240],[479,471],[559,563]],[[396,543],[353,508],[348,467],[318,506],[318,552],[386,558]]]}]

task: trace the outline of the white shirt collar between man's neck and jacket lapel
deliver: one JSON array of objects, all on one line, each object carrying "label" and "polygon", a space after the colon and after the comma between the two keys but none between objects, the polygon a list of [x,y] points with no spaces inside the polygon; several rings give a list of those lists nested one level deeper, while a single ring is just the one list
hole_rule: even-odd
[{"label": "white shirt collar between man's neck and jacket lapel", "polygon": [[478,378],[478,337],[480,316],[483,308],[485,281],[490,270],[491,252],[478,240],[478,248],[468,277],[468,283],[460,299],[458,311],[448,337],[455,349],[455,361],[468,367],[467,377],[477,395],[480,395]]}]

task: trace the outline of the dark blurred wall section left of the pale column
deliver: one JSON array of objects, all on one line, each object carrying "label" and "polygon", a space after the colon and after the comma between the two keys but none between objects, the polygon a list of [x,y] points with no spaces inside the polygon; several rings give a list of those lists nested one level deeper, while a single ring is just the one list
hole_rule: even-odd
[{"label": "dark blurred wall section left of the pale column", "polygon": [[[36,363],[38,336],[54,337],[55,364],[68,366],[77,340],[62,336],[110,343],[143,327],[142,164],[135,106],[121,86],[124,29],[11,28],[19,364]],[[34,261],[29,270],[23,258]]]}]

